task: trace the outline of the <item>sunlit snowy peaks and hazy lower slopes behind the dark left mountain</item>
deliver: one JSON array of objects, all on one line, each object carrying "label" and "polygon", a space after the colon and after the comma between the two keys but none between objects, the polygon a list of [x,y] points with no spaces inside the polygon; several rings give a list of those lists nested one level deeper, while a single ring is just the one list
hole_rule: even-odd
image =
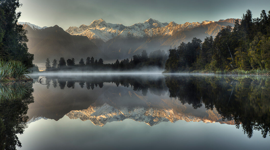
[{"label": "sunlit snowy peaks and hazy lower slopes behind the dark left mountain", "polygon": [[158,49],[168,50],[170,47],[179,46],[182,42],[191,41],[193,37],[204,40],[206,36],[217,35],[222,27],[227,25],[234,27],[235,20],[205,20],[202,23],[177,24],[173,21],[161,23],[150,18],[144,23],[124,26],[99,19],[88,26],[83,24],[80,27],[69,27],[66,32],[71,35],[87,36],[111,57],[126,58],[141,53],[144,49],[148,52]]}]

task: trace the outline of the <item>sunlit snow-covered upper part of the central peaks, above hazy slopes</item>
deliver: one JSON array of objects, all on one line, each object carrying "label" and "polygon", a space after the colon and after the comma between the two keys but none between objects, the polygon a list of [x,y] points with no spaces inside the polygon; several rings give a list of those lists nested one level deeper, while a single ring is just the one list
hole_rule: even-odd
[{"label": "sunlit snow-covered upper part of the central peaks, above hazy slopes", "polygon": [[215,21],[205,20],[202,23],[186,22],[184,24],[176,24],[172,21],[168,24],[150,18],[144,21],[144,23],[124,26],[123,24],[106,23],[103,19],[99,19],[94,20],[88,26],[83,24],[80,27],[69,27],[66,32],[71,35],[83,35],[87,36],[89,39],[101,39],[103,42],[107,42],[116,36],[120,38],[144,38],[155,35],[172,35],[173,31],[187,30],[212,22]]}]

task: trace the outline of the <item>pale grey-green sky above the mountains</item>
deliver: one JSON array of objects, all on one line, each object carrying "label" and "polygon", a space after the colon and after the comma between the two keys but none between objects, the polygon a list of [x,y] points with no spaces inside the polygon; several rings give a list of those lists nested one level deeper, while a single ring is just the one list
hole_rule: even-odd
[{"label": "pale grey-green sky above the mountains", "polygon": [[90,25],[102,18],[107,23],[132,25],[149,18],[160,22],[202,22],[240,18],[247,9],[254,17],[270,9],[269,0],[19,0],[19,21],[40,27]]}]

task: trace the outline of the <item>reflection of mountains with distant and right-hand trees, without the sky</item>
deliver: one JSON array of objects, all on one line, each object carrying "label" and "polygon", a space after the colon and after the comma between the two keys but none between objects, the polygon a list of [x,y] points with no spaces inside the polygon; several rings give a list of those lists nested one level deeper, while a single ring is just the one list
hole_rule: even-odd
[{"label": "reflection of mountains with distant and right-hand trees, without the sky", "polygon": [[249,138],[254,130],[264,138],[270,132],[268,76],[46,77],[47,85],[33,84],[35,103],[29,105],[29,123],[66,115],[98,126],[125,119],[150,126],[185,120],[241,125]]}]

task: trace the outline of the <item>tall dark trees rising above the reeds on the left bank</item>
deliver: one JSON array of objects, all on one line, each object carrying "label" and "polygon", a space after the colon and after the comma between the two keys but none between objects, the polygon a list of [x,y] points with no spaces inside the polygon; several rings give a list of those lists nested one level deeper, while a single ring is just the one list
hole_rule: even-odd
[{"label": "tall dark trees rising above the reeds on the left bank", "polygon": [[26,67],[32,67],[34,55],[28,52],[26,42],[27,30],[18,23],[21,12],[19,0],[0,1],[0,59],[4,61],[19,61]]}]

